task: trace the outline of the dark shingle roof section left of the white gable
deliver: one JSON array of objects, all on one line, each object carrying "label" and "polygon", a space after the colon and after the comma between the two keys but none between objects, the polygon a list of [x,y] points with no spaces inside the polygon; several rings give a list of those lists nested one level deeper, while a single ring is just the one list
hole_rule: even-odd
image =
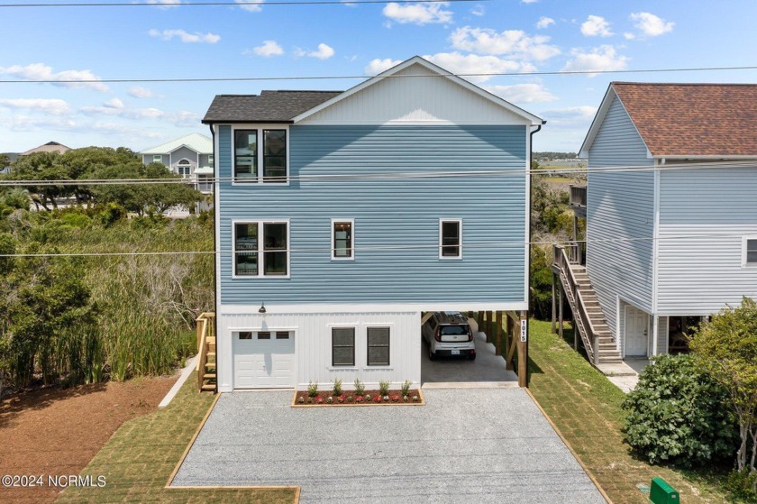
[{"label": "dark shingle roof section left of the white gable", "polygon": [[260,95],[217,95],[203,123],[290,123],[342,91],[262,91]]}]

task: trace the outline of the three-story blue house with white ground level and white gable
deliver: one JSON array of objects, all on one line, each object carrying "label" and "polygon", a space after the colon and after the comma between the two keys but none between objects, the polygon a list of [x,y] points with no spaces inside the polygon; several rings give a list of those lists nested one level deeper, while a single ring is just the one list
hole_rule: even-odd
[{"label": "three-story blue house with white ground level and white gable", "polygon": [[526,310],[543,121],[415,57],[344,92],[220,95],[220,391],[420,381],[422,312]]}]

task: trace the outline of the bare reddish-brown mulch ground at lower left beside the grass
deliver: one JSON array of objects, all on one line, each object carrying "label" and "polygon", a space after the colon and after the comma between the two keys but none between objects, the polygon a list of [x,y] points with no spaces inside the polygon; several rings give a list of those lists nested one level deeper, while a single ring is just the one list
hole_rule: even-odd
[{"label": "bare reddish-brown mulch ground at lower left beside the grass", "polygon": [[41,475],[45,483],[0,487],[0,502],[55,500],[62,489],[47,477],[81,472],[123,422],[155,411],[177,378],[47,387],[0,400],[0,475]]}]

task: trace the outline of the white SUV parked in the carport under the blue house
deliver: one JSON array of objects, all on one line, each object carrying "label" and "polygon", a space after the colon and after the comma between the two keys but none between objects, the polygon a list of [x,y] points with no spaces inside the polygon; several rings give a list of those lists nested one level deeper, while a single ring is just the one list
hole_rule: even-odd
[{"label": "white SUV parked in the carport under the blue house", "polygon": [[434,312],[425,322],[421,333],[428,344],[428,358],[439,355],[476,359],[476,343],[468,319],[460,312]]}]

